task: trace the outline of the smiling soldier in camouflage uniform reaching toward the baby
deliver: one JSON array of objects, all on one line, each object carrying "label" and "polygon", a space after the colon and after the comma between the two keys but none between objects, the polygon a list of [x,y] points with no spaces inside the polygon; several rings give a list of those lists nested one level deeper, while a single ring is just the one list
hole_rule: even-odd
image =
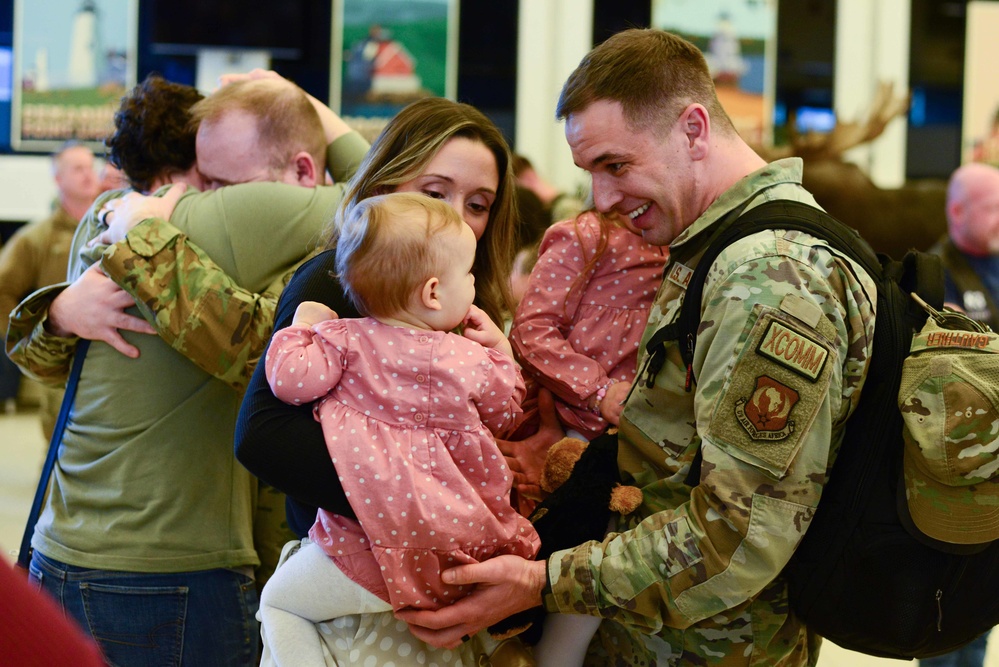
[{"label": "smiling soldier in camouflage uniform reaching toward the baby", "polygon": [[[800,160],[759,158],[720,108],[700,51],[674,35],[629,30],[595,48],[558,116],[597,208],[670,245],[643,349],[678,315],[721,217],[774,199],[817,206]],[[780,573],[864,384],[875,287],[824,241],[782,231],[736,242],[705,282],[692,367],[667,343],[658,372],[639,362],[625,403],[618,463],[642,507],[547,563],[455,568],[453,581],[479,589],[438,612],[401,614],[414,634],[454,645],[543,602],[605,619],[588,664],[815,664],[820,640],[789,613]],[[699,477],[688,480],[698,453]]]}]

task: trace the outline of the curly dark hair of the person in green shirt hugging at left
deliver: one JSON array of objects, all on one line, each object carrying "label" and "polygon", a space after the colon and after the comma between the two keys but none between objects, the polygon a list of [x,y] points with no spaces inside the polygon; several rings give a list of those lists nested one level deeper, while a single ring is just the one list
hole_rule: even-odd
[{"label": "curly dark hair of the person in green shirt hugging at left", "polygon": [[148,192],[157,177],[191,168],[197,128],[190,109],[202,97],[191,86],[150,74],[121,98],[115,130],[104,143],[108,161],[125,172],[133,188]]}]

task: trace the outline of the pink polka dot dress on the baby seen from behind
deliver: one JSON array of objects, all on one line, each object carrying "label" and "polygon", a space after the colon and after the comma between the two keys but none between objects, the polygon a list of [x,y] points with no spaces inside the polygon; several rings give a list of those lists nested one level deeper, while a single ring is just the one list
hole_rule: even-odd
[{"label": "pink polka dot dress on the baby seen from behind", "polygon": [[520,415],[512,359],[457,334],[360,318],[282,329],[265,364],[278,398],[315,402],[358,521],[320,510],[309,536],[354,581],[396,609],[436,609],[471,590],[443,584],[442,570],[537,553],[492,435]]}]

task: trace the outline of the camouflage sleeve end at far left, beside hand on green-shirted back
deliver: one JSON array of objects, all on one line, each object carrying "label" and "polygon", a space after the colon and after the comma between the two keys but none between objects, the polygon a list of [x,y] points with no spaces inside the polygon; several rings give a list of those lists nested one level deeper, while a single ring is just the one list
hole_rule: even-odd
[{"label": "camouflage sleeve end at far left, beside hand on green-shirted back", "polygon": [[49,306],[67,285],[50,285],[29,295],[11,312],[7,328],[7,356],[26,375],[49,385],[66,383],[79,341],[45,331]]}]

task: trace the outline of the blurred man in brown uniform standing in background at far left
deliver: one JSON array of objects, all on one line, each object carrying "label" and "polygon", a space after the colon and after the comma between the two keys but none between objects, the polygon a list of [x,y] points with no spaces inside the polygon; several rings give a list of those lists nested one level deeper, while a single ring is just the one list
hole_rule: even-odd
[{"label": "blurred man in brown uniform standing in background at far left", "polygon": [[[66,279],[73,234],[100,193],[94,153],[80,143],[66,143],[52,156],[52,177],[58,197],[52,215],[21,227],[0,248],[0,332],[7,332],[10,311],[21,299]],[[61,387],[39,385],[46,440],[52,437],[62,394]]]}]

